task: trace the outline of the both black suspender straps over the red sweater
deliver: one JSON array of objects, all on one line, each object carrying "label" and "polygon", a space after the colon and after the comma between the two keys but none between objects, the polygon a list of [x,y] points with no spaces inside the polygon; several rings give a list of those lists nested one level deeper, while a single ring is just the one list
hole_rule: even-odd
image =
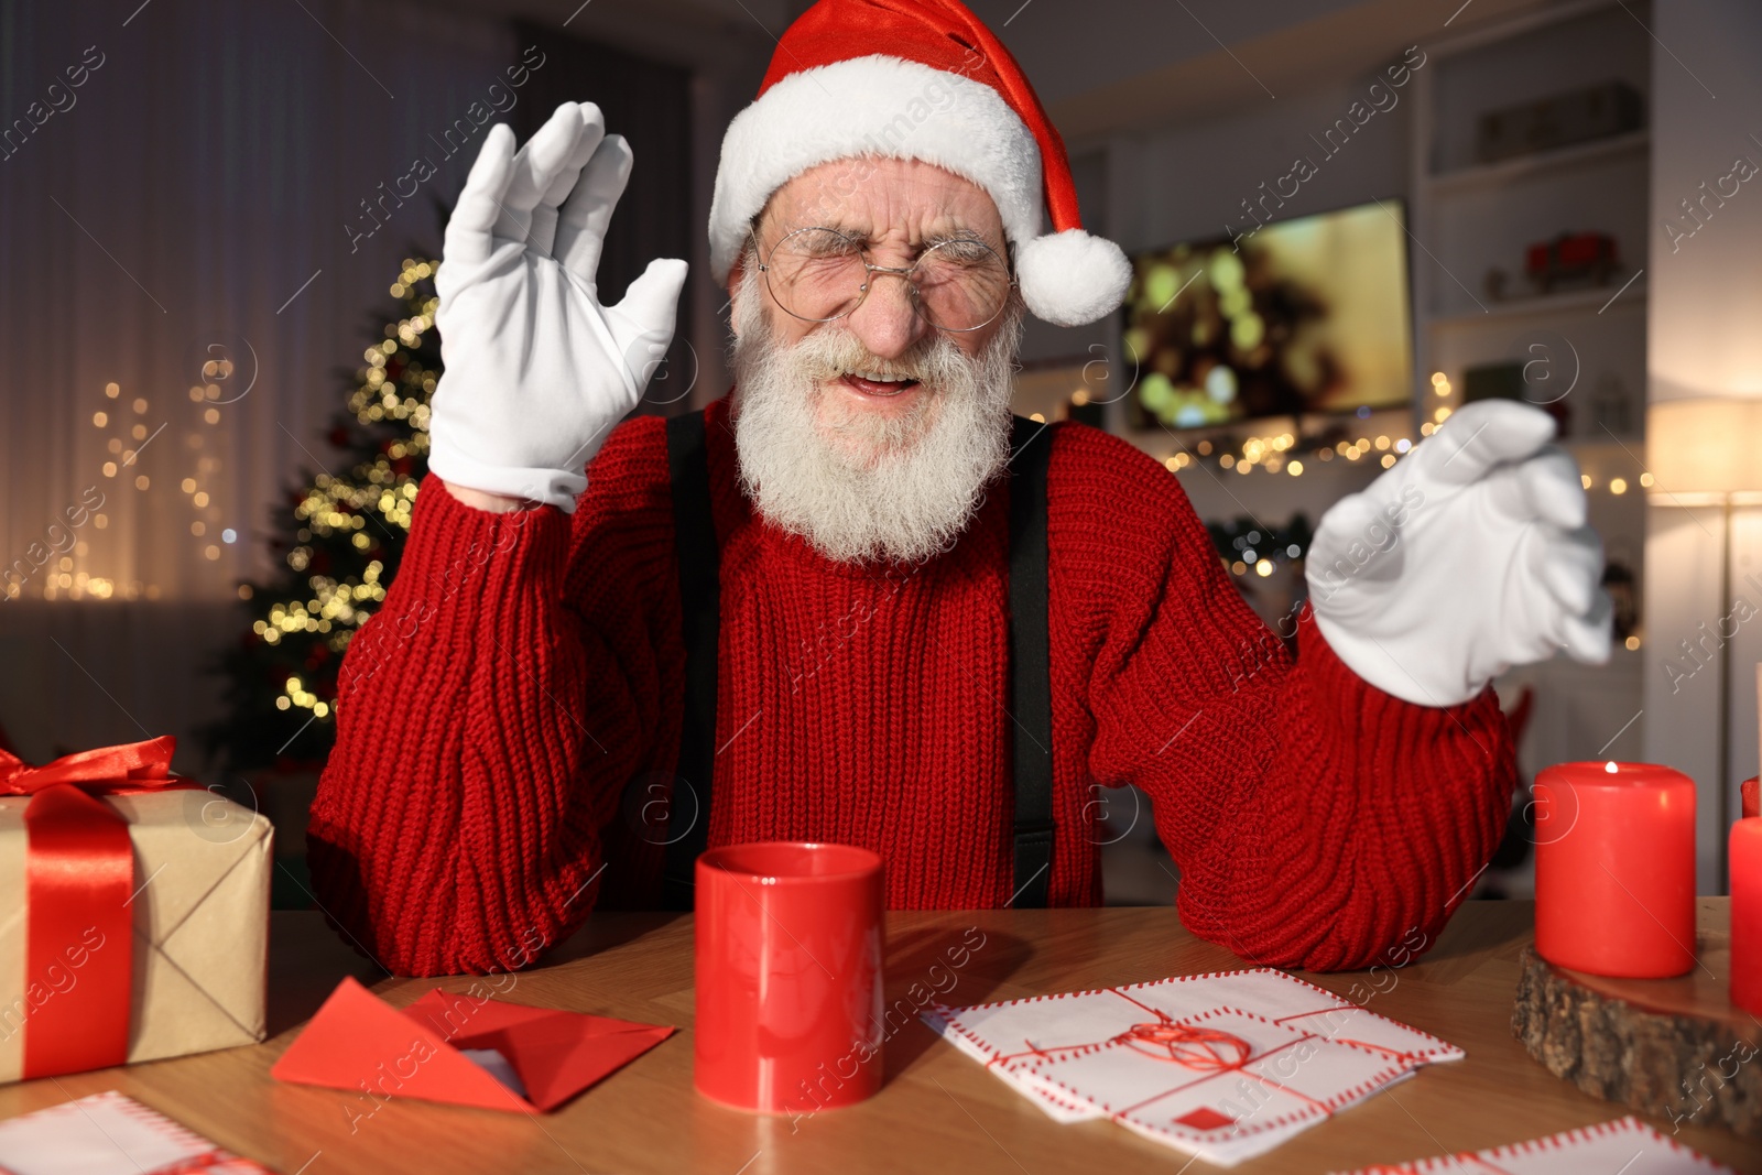
[{"label": "both black suspender straps over the red sweater", "polygon": [[[1010,699],[1015,729],[1015,884],[1010,900],[1047,904],[1052,876],[1052,657],[1047,639],[1047,425],[1013,418],[1010,433]],[[715,765],[715,661],[721,548],[710,516],[703,412],[666,423],[673,536],[685,643],[685,713],[668,821],[663,905],[692,907],[692,876],[710,835]],[[684,830],[678,824],[684,823]]]}]

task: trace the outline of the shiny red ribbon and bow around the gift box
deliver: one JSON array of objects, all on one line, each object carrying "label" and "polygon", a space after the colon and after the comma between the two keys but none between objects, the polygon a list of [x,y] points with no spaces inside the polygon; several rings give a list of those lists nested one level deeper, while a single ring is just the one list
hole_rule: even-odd
[{"label": "shiny red ribbon and bow around the gift box", "polygon": [[26,831],[25,1076],[129,1059],[134,847],[97,794],[183,787],[166,735],[44,766],[0,750],[0,796],[30,796]]}]

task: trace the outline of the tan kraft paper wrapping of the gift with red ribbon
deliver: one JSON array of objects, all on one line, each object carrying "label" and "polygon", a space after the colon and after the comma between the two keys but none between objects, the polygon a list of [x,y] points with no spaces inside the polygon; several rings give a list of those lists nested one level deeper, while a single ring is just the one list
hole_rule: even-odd
[{"label": "tan kraft paper wrapping of the gift with red ribbon", "polygon": [[[0,798],[0,1082],[23,1076],[25,807]],[[264,1036],[273,828],[211,791],[104,796],[134,844],[134,985],[129,1062],[255,1045]],[[69,927],[70,957],[58,988],[79,985],[81,928]],[[106,950],[99,946],[97,950]]]}]

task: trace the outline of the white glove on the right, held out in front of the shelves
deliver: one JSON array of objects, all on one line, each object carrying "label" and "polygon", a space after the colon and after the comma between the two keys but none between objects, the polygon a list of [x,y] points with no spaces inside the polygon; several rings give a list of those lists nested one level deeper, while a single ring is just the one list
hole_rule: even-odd
[{"label": "white glove on the right, held out in front of the shelves", "polygon": [[1603,548],[1547,412],[1470,403],[1404,462],[1322,516],[1316,625],[1353,673],[1422,706],[1475,698],[1565,648],[1609,659]]}]

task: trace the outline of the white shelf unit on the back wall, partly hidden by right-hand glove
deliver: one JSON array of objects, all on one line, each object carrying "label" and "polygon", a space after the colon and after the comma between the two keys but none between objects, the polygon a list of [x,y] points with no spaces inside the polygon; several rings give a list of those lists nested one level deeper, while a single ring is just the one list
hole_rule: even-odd
[{"label": "white shelf unit on the back wall, partly hidden by right-hand glove", "polygon": [[[1570,391],[1565,447],[1589,477],[1589,523],[1605,555],[1635,576],[1644,567],[1646,240],[1651,132],[1632,130],[1499,162],[1475,159],[1482,113],[1605,81],[1633,86],[1647,106],[1651,41],[1640,0],[1570,0],[1427,46],[1415,72],[1410,222],[1413,234],[1415,430],[1441,405],[1459,407],[1468,368],[1538,358],[1542,344]],[[1529,245],[1561,233],[1616,240],[1619,270],[1607,285],[1535,291],[1522,275]],[[1487,271],[1507,275],[1505,298]],[[1630,282],[1630,278],[1633,278]],[[1531,296],[1533,294],[1533,296]],[[1452,395],[1433,395],[1443,372]],[[1621,491],[1618,493],[1616,488]],[[1644,585],[1640,585],[1644,592]],[[1607,740],[1640,701],[1639,664],[1651,655],[1618,647],[1616,664],[1556,659],[1512,675],[1538,705],[1521,747],[1528,772],[1563,759],[1635,754],[1637,735]],[[1637,728],[1635,728],[1637,729]]]}]

